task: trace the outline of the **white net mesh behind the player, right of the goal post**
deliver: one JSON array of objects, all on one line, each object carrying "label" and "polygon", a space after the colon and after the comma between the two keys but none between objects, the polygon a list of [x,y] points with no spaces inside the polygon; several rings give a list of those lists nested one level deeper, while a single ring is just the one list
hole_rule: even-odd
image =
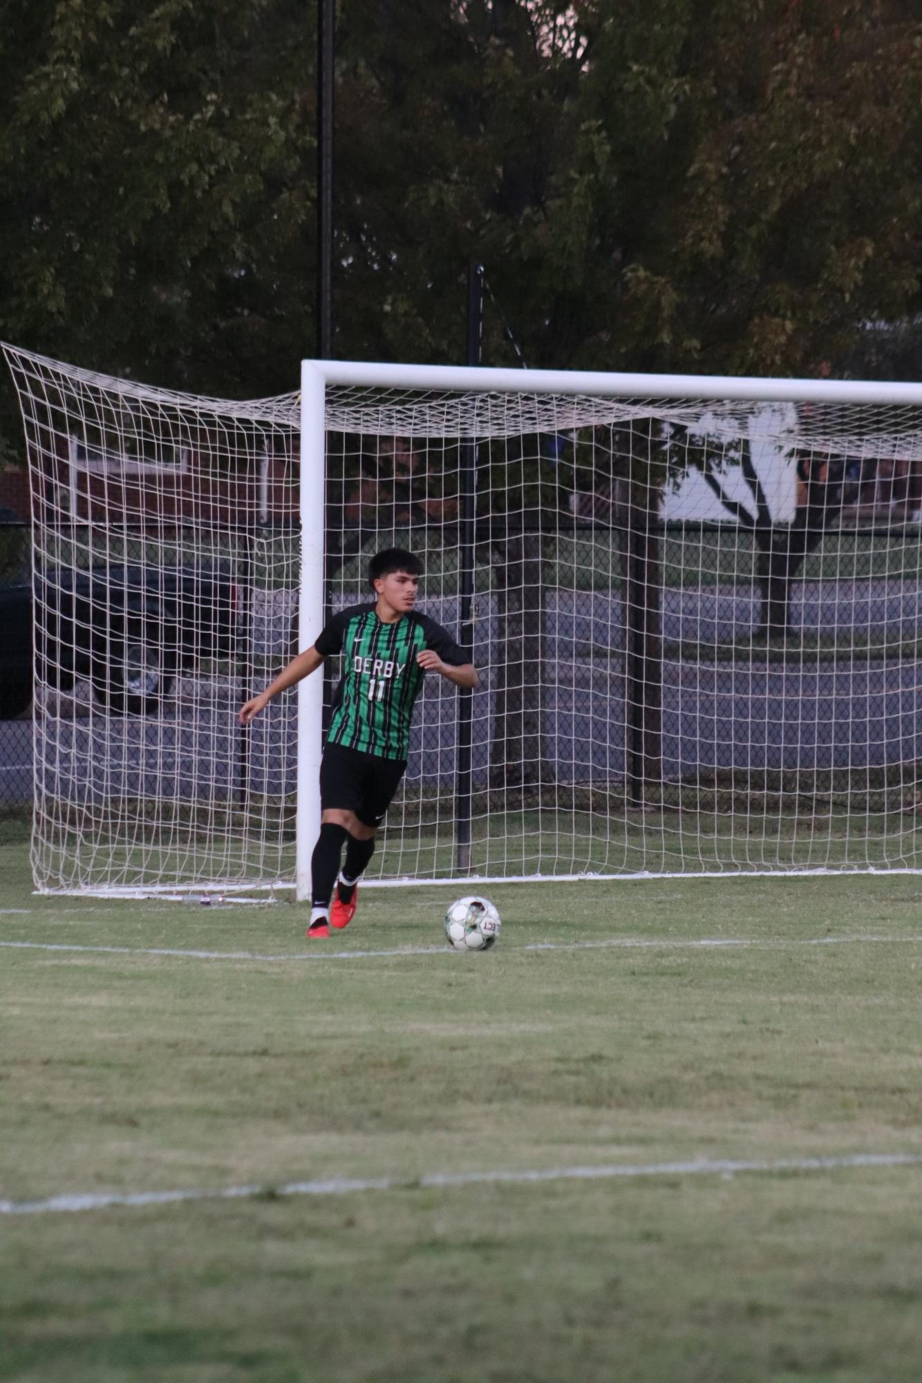
[{"label": "white net mesh behind the player, right of the goal post", "polygon": [[333,603],[409,546],[458,633],[473,578],[470,794],[430,679],[383,874],[916,867],[918,409],[350,389],[326,416]]}]

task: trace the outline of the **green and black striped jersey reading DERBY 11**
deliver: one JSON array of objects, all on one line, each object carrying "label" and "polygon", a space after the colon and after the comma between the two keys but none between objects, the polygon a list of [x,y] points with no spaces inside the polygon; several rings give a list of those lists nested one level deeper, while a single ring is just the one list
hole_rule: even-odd
[{"label": "green and black striped jersey reading DERBY 11", "polygon": [[350,606],[333,615],[315,649],[325,658],[343,654],[326,743],[383,759],[405,759],[408,754],[413,704],[426,676],[416,654],[433,649],[455,668],[470,662],[427,614],[412,610],[384,624],[375,606]]}]

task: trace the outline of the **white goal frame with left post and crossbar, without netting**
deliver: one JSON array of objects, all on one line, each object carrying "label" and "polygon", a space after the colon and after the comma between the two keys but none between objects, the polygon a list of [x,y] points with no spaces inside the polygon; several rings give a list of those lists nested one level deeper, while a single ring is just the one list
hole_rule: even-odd
[{"label": "white goal frame with left post and crossbar, without netting", "polygon": [[[702,401],[746,401],[789,404],[871,404],[922,408],[922,383],[878,380],[782,379],[724,375],[650,375],[604,371],[505,369],[467,365],[401,365],[372,361],[301,361],[301,588],[299,600],[299,651],[312,646],[323,624],[323,557],[326,492],[326,390],[420,389],[463,393],[546,393],[597,396],[607,398],[697,398]],[[473,438],[471,438],[473,440]],[[323,685],[305,678],[299,685],[297,809],[296,809],[296,896],[310,899],[311,853],[319,834],[319,762],[322,750]],[[868,873],[878,873],[869,869]],[[748,870],[746,874],[763,873]],[[766,875],[829,873],[825,869],[766,870]],[[879,873],[915,873],[886,869]],[[593,875],[554,875],[558,880]],[[633,878],[637,875],[596,875]],[[683,874],[684,878],[697,877]],[[735,871],[706,877],[737,877]],[[521,881],[531,880],[523,875]],[[469,875],[470,882],[492,878]],[[503,877],[503,882],[518,878]],[[379,880],[379,887],[411,882]],[[415,884],[446,884],[455,880],[412,880]]]}]

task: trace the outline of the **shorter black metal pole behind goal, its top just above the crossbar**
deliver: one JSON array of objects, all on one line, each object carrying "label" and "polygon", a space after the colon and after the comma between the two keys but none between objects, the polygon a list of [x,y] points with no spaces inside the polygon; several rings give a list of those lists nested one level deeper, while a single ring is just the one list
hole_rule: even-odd
[{"label": "shorter black metal pole behind goal, its top just above the crossbar", "polygon": [[[480,365],[484,319],[484,267],[467,268],[467,364]],[[459,552],[458,595],[460,647],[474,656],[474,524],[477,506],[477,443],[471,437],[462,444],[459,456]],[[470,869],[471,820],[471,743],[474,726],[474,693],[458,693],[458,752],[455,761],[455,857],[458,870]]]}]

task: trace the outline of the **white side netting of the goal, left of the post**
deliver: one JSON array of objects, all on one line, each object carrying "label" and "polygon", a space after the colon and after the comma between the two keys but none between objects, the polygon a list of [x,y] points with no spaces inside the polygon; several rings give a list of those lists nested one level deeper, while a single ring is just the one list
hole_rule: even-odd
[{"label": "white side netting of the goal, left of the post", "polygon": [[189,398],[6,347],[33,519],[37,888],[290,880],[297,396]]}]

